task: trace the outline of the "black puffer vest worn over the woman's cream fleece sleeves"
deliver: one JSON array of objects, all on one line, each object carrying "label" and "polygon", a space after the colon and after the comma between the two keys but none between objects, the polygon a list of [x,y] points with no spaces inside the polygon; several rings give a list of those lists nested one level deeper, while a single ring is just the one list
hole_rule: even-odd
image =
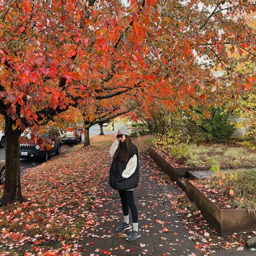
[{"label": "black puffer vest worn over the woman's cream fleece sleeves", "polygon": [[[137,155],[137,167],[135,172],[127,179],[122,177],[122,173],[125,170],[127,163],[122,161],[122,156],[125,151],[125,143],[121,143],[121,150],[118,152],[117,158],[112,162],[110,167],[109,185],[110,187],[118,190],[133,189],[138,187],[139,184],[139,158],[138,149],[131,143],[129,160],[136,154]],[[128,162],[129,162],[128,160]]]}]

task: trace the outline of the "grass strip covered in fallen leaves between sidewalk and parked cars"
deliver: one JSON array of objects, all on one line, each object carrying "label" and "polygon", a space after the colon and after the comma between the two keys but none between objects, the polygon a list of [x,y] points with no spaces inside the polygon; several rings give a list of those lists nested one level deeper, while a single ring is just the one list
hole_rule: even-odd
[{"label": "grass strip covered in fallen leaves between sidewalk and parked cars", "polygon": [[26,201],[0,208],[0,255],[80,255],[77,241],[94,224],[98,180],[110,163],[110,137],[92,144],[26,171]]}]

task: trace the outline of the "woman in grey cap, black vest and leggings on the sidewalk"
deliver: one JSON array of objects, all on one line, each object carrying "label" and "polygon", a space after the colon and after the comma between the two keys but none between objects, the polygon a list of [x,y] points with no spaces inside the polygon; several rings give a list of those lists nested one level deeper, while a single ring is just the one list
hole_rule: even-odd
[{"label": "woman in grey cap, black vest and leggings on the sidewalk", "polygon": [[122,203],[124,222],[118,226],[118,232],[124,232],[131,228],[129,221],[129,208],[133,218],[133,231],[128,234],[126,240],[134,241],[141,236],[138,228],[138,210],[135,205],[133,190],[139,184],[139,160],[138,149],[131,142],[127,129],[119,129],[114,142],[109,150],[113,158],[110,167],[109,184],[117,189]]}]

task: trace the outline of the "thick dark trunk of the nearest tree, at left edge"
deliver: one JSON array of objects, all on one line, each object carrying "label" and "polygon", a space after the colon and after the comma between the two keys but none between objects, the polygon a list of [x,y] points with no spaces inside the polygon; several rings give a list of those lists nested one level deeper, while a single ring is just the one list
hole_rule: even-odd
[{"label": "thick dark trunk of the nearest tree, at left edge", "polygon": [[1,205],[23,201],[20,187],[19,138],[22,131],[13,130],[14,121],[5,117],[5,188],[0,200]]}]

